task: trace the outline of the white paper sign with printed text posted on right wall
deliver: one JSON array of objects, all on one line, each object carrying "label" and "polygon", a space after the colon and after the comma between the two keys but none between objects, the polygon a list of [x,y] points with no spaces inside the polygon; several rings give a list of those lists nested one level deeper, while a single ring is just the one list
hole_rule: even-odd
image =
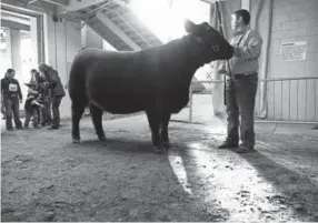
[{"label": "white paper sign with printed text posted on right wall", "polygon": [[280,47],[281,61],[301,61],[306,60],[307,43],[304,42],[284,42]]}]

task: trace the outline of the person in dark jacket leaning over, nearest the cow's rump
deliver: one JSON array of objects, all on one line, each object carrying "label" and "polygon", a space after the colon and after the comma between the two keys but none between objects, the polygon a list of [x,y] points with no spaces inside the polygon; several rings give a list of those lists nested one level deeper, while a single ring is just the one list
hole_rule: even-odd
[{"label": "person in dark jacket leaning over, nearest the cow's rump", "polygon": [[61,79],[56,70],[44,63],[41,63],[39,65],[39,71],[44,74],[49,82],[49,88],[51,89],[53,120],[50,130],[57,130],[60,128],[59,107],[62,98],[66,95],[66,92],[61,83]]}]

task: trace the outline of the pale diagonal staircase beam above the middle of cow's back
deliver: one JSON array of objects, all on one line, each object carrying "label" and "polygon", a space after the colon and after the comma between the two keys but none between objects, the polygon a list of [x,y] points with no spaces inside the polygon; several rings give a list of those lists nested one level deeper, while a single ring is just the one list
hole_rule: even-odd
[{"label": "pale diagonal staircase beam above the middle of cow's back", "polygon": [[96,16],[105,26],[107,26],[113,33],[116,33],[122,41],[126,42],[131,49],[140,50],[141,48],[136,44],[125,32],[122,32],[110,19],[108,19],[102,12],[98,12]]}]

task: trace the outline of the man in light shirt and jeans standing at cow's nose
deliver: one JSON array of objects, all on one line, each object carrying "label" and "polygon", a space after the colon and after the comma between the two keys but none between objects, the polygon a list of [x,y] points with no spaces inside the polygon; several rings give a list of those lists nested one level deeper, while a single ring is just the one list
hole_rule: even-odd
[{"label": "man in light shirt and jeans standing at cow's nose", "polygon": [[255,146],[254,110],[258,85],[258,58],[261,52],[262,39],[257,31],[249,29],[250,13],[237,10],[231,14],[233,37],[231,44],[235,54],[228,64],[222,61],[218,72],[227,75],[226,110],[227,139],[219,149],[238,148],[239,116],[240,138],[242,143],[237,152],[251,152]]}]

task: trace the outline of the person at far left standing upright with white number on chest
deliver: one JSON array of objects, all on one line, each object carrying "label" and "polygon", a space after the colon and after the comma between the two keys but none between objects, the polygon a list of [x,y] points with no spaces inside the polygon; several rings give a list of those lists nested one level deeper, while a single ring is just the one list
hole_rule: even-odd
[{"label": "person at far left standing upright with white number on chest", "polygon": [[8,69],[6,77],[1,79],[1,93],[3,94],[3,103],[6,107],[6,126],[8,131],[13,130],[12,111],[16,129],[23,129],[20,121],[19,103],[22,102],[21,88],[17,79],[14,79],[16,71]]}]

